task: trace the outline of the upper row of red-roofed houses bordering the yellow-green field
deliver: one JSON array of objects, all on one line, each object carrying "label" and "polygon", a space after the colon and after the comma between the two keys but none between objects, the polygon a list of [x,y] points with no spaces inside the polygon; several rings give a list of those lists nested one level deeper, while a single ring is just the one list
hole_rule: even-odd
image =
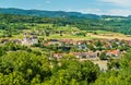
[{"label": "upper row of red-roofed houses bordering the yellow-green field", "polygon": [[[62,45],[72,45],[72,46],[82,46],[82,45],[90,45],[90,44],[94,44],[95,41],[98,41],[98,39],[88,39],[88,40],[73,40],[73,39],[50,39],[48,42],[44,44],[44,46],[50,46],[50,45],[58,45],[58,46],[62,46]],[[100,42],[106,42],[105,46],[112,48],[111,42],[116,42],[117,45],[120,45],[121,40],[119,39],[100,39]],[[131,46],[131,40],[123,40],[124,42],[127,42],[129,46]],[[124,45],[124,44],[123,44]]]}]

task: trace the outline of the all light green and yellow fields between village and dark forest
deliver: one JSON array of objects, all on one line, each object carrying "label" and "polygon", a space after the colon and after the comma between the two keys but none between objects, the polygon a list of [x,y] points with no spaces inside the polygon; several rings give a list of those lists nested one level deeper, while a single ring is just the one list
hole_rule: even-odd
[{"label": "all light green and yellow fields between village and dark forest", "polygon": [[[123,35],[120,33],[112,33],[112,32],[106,32],[106,31],[80,31],[76,27],[72,26],[56,26],[53,27],[52,24],[36,24],[34,26],[27,25],[27,28],[29,29],[24,29],[23,33],[38,33],[38,32],[44,32],[44,31],[64,31],[66,33],[60,36],[60,34],[50,34],[49,37],[47,36],[38,36],[38,37],[44,37],[48,39],[78,39],[78,40],[86,40],[86,39],[96,39],[96,38],[103,38],[103,39],[126,39],[129,40],[131,39],[130,35]],[[79,33],[86,33],[86,36],[80,36],[80,35],[73,35],[72,32],[79,32]],[[13,35],[13,39],[22,39],[24,37],[23,33],[20,33],[19,35]],[[94,34],[95,33],[95,34]],[[39,33],[38,33],[39,34]],[[0,36],[3,35],[3,31],[0,29]],[[8,37],[7,37],[8,38]]]}]

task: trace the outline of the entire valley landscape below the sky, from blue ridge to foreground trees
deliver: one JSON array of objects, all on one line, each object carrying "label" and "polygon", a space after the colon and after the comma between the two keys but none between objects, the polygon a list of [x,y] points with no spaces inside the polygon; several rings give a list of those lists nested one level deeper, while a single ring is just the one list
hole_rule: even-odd
[{"label": "entire valley landscape below the sky, from blue ridge to foreground trees", "polygon": [[130,17],[9,10],[0,10],[0,85],[130,85]]}]

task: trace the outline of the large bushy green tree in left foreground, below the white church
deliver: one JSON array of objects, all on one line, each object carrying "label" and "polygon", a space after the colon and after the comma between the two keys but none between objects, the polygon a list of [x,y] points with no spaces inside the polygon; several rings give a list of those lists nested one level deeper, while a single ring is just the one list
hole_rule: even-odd
[{"label": "large bushy green tree in left foreground, below the white church", "polygon": [[46,57],[36,56],[25,51],[10,52],[0,59],[0,72],[9,75],[14,71],[21,72],[23,77],[31,83],[37,75],[39,82],[51,75],[49,62]]}]

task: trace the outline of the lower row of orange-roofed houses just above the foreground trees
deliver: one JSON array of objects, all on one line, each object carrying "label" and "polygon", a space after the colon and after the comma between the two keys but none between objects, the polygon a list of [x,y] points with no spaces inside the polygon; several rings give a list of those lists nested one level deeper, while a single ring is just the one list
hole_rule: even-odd
[{"label": "lower row of orange-roofed houses just above the foreground trees", "polygon": [[[103,51],[88,51],[88,52],[70,52],[70,53],[53,53],[52,57],[56,59],[61,59],[66,54],[74,56],[78,59],[88,59],[88,60],[98,60],[99,54]],[[106,56],[108,57],[120,57],[122,52],[119,50],[107,50]]]}]

